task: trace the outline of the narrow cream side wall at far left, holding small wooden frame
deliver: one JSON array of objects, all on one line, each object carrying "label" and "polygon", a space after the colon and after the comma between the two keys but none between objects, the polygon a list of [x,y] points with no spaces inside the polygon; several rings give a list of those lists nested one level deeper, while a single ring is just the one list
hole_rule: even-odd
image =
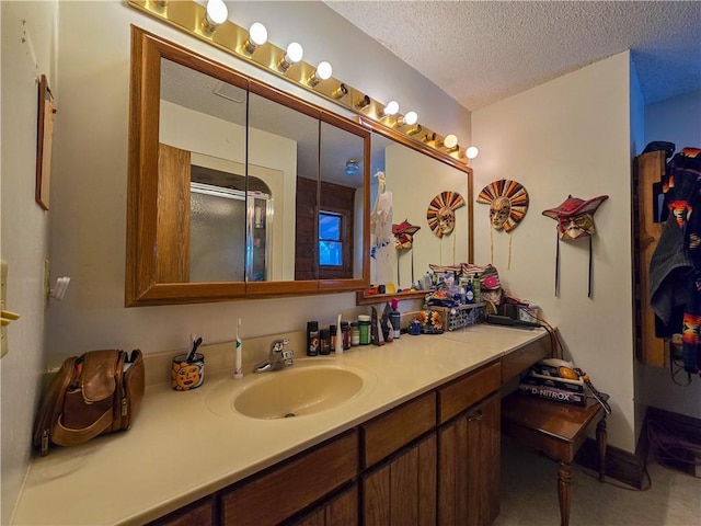
[{"label": "narrow cream side wall at far left, holding small wooden frame", "polygon": [[[58,8],[56,2],[1,2],[0,9],[0,252],[9,262],[8,309],[21,315],[8,327],[9,353],[0,362],[1,522],[8,524],[26,472],[39,375],[45,365],[43,275],[44,260],[48,256],[50,213],[45,213],[34,201],[36,81],[44,73],[53,92],[59,91],[54,61]],[[58,108],[60,112],[60,104]]]}]

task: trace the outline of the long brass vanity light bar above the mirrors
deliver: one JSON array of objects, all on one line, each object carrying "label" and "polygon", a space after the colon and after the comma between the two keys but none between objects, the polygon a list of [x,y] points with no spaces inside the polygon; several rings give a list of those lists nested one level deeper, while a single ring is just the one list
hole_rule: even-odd
[{"label": "long brass vanity light bar above the mirrors", "polygon": [[[223,23],[216,25],[214,31],[210,31],[212,28],[208,24],[205,5],[194,1],[181,0],[168,2],[162,0],[128,0],[128,4],[230,55],[253,64],[268,73],[276,75],[307,91],[323,96],[334,104],[357,114],[359,122],[364,122],[369,117],[376,125],[394,129],[413,141],[428,146],[439,156],[446,156],[461,163],[467,162],[468,156],[464,148],[457,146],[448,151],[443,147],[443,142],[438,146],[438,140],[424,140],[425,137],[436,136],[426,126],[417,125],[412,127],[407,130],[412,132],[412,134],[409,134],[407,132],[398,130],[391,126],[391,123],[380,122],[383,118],[387,121],[386,116],[389,115],[389,113],[384,113],[384,104],[333,77],[317,81],[314,77],[317,72],[315,66],[303,60],[290,64],[291,60],[286,59],[285,56],[286,49],[275,46],[269,41],[252,48],[251,41],[249,41],[249,30],[234,24],[230,20],[226,20]],[[314,80],[310,82],[310,79]],[[412,114],[415,115],[414,112],[409,112],[406,115],[397,113],[397,122],[406,122],[406,124],[413,126],[416,123],[411,123]],[[406,117],[410,118],[407,119]],[[421,132],[421,135],[418,132]]]}]

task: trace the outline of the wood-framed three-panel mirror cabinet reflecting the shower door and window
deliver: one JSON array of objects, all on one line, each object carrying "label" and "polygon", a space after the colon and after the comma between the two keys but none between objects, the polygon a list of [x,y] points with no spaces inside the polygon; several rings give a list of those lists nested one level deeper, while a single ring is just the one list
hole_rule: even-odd
[{"label": "wood-framed three-panel mirror cabinet reflecting the shower door and window", "polygon": [[131,68],[127,306],[367,287],[367,128],[137,27]]}]

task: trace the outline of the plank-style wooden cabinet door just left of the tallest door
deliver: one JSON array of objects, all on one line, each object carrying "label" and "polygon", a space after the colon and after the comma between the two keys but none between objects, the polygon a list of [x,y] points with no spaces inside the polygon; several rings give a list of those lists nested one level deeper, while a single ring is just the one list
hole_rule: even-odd
[{"label": "plank-style wooden cabinet door just left of the tallest door", "polygon": [[436,435],[363,477],[365,526],[436,524]]}]

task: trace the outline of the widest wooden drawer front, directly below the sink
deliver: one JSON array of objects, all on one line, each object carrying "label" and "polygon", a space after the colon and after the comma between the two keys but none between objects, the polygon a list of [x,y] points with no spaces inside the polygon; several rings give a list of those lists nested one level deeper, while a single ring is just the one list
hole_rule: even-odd
[{"label": "widest wooden drawer front, directly below the sink", "polygon": [[225,494],[222,523],[279,524],[357,473],[358,435],[352,431]]}]

